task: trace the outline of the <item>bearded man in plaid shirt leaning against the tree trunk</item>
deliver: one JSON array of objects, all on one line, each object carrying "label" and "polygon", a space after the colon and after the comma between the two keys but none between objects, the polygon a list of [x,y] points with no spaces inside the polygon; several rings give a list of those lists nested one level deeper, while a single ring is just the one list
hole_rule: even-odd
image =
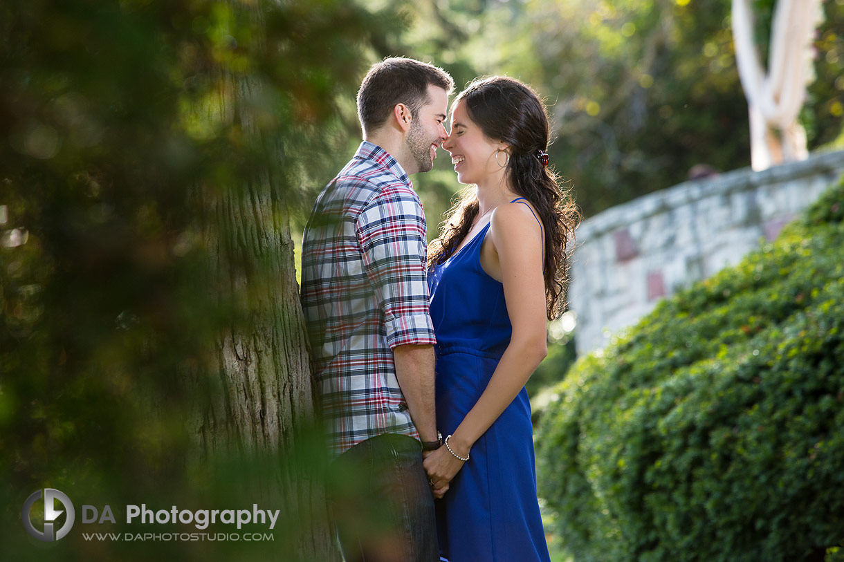
[{"label": "bearded man in plaid shirt leaning against the tree trunk", "polygon": [[[329,491],[348,562],[439,559],[422,467],[440,445],[427,227],[408,175],[433,167],[452,89],[424,62],[375,64],[357,97],[364,142],[305,230],[301,300],[335,473],[369,478],[359,496]],[[386,527],[362,528],[367,505]]]}]

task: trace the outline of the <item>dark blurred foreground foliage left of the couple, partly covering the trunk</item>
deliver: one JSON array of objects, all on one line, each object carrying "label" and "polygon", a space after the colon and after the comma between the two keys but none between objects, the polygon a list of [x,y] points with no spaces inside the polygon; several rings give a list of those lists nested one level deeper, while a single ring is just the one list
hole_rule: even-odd
[{"label": "dark blurred foreground foliage left of the couple, partly covering the trunk", "polygon": [[[230,225],[208,216],[206,197],[269,182],[267,203],[285,213],[336,152],[336,100],[354,98],[369,41],[391,33],[393,15],[339,0],[3,2],[5,559],[45,555],[19,521],[24,498],[45,486],[75,502],[225,509],[252,505],[235,493],[243,484],[272,488],[279,471],[298,469],[295,451],[246,466],[225,455],[192,464],[192,424],[200,423],[192,415],[207,399],[195,377],[225,384],[219,334],[248,333],[255,320],[245,291],[217,283],[209,240],[225,238],[219,231]],[[268,235],[286,217],[273,221],[278,230]],[[219,267],[255,284],[265,265],[242,257]],[[239,299],[223,297],[232,292]],[[299,457],[313,473],[322,457],[311,453]],[[216,462],[229,466],[222,477],[203,478]],[[252,557],[295,559],[297,533],[310,532],[302,516],[276,543],[252,545]],[[49,557],[210,555],[203,543],[88,544],[76,529],[57,547]],[[243,543],[214,553],[232,559],[237,548]]]}]

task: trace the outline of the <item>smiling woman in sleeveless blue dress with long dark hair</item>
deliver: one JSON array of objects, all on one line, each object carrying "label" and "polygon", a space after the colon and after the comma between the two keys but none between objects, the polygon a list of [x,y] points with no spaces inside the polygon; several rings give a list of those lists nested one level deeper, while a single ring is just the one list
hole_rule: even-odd
[{"label": "smiling woman in sleeveless blue dress with long dark hair", "polygon": [[441,554],[451,562],[549,559],[525,382],[560,311],[576,210],[549,172],[549,122],[525,84],[476,80],[443,148],[471,184],[429,249],[444,446],[425,458]]}]

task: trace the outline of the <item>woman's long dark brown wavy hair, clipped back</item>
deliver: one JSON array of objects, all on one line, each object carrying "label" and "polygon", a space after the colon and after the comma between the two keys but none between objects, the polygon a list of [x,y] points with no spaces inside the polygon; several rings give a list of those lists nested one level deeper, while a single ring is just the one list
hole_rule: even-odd
[{"label": "woman's long dark brown wavy hair, clipped back", "polygon": [[[544,226],[545,301],[549,320],[565,307],[565,283],[580,213],[571,191],[554,170],[542,165],[539,151],[549,145],[548,114],[536,92],[515,78],[478,78],[454,103],[466,101],[469,118],[488,138],[510,145],[505,173],[518,195],[533,204]],[[446,213],[440,236],[428,248],[428,267],[445,262],[466,238],[478,216],[478,197],[472,186]]]}]

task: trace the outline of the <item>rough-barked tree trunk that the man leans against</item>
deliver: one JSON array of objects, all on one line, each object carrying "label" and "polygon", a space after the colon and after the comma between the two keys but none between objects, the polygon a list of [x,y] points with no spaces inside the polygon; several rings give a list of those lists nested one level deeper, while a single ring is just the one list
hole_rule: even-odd
[{"label": "rough-barked tree trunk that the man leans against", "polygon": [[[250,10],[252,19],[261,17],[260,3],[231,5]],[[207,213],[205,240],[215,257],[210,283],[219,291],[221,310],[235,316],[216,341],[196,435],[203,458],[237,457],[249,464],[269,457],[269,475],[232,485],[257,491],[271,509],[282,510],[280,521],[297,523],[299,531],[282,538],[292,544],[279,545],[285,560],[335,560],[321,471],[309,469],[312,459],[302,470],[303,461],[292,458],[300,440],[312,437],[303,435],[314,426],[311,368],[284,186],[269,165],[280,161],[281,148],[266,145],[248,109],[262,88],[251,76],[220,70],[219,114],[212,119],[238,127],[246,142],[269,153],[268,165],[250,167],[249,177],[225,192],[199,197]]]}]

